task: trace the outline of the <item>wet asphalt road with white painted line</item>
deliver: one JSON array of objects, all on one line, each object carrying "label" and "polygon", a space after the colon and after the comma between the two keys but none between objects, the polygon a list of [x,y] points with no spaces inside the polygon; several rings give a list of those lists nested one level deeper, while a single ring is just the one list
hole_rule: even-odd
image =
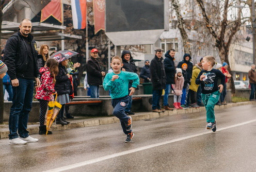
[{"label": "wet asphalt road with white painted line", "polygon": [[256,107],[216,111],[217,131],[205,112],[133,122],[132,143],[120,124],[31,136],[38,143],[1,139],[0,171],[255,171]]}]

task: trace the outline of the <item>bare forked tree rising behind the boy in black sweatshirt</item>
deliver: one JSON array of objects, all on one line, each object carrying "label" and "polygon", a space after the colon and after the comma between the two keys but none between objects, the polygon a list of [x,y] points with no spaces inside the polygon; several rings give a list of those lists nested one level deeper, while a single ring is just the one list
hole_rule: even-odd
[{"label": "bare forked tree rising behind the boy in black sweatshirt", "polygon": [[[233,37],[241,26],[241,9],[238,9],[236,19],[228,20],[228,9],[231,5],[233,5],[232,3],[236,3],[236,1],[230,2],[229,0],[225,0],[223,1],[223,4],[215,4],[212,7],[210,6],[210,3],[206,3],[203,0],[196,1],[202,12],[204,26],[212,35],[212,38],[215,41],[215,46],[218,48],[221,62],[225,61],[229,65],[229,48],[232,43]],[[219,11],[220,13],[218,13],[218,18],[215,18],[213,20],[213,11],[207,11],[205,8],[206,6],[207,9],[216,9],[217,11]],[[218,25],[216,25],[216,19],[218,19]],[[228,71],[232,74],[230,65],[228,67]],[[231,77],[231,91],[232,93],[235,93],[233,77]]]}]

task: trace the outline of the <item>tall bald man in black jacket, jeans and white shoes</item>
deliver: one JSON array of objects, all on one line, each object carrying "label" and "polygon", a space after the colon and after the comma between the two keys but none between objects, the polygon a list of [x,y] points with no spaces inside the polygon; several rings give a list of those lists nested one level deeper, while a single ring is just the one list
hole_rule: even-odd
[{"label": "tall bald man in black jacket, jeans and white shoes", "polygon": [[[4,61],[8,66],[11,78],[13,99],[9,117],[9,144],[24,145],[27,142],[38,142],[28,135],[28,114],[32,107],[34,80],[40,85],[37,64],[37,45],[30,34],[32,23],[23,19],[17,33],[6,43]],[[19,131],[18,131],[19,129]],[[18,131],[18,133],[17,133]]]}]

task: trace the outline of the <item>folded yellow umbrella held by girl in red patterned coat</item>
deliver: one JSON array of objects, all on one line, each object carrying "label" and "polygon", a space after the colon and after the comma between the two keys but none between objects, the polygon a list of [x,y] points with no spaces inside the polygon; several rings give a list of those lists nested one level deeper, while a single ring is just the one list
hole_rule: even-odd
[{"label": "folded yellow umbrella held by girl in red patterned coat", "polygon": [[62,105],[59,104],[59,102],[56,101],[57,99],[57,93],[55,96],[54,101],[49,101],[48,103],[48,111],[46,112],[46,134],[48,133],[48,131],[50,130],[56,116],[59,113],[59,110],[61,109]]}]

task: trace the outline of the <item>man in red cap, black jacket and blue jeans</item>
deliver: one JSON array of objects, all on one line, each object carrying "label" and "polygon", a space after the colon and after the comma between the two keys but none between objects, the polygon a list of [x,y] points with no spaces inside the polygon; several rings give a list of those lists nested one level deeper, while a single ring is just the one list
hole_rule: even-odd
[{"label": "man in red cap, black jacket and blue jeans", "polygon": [[91,57],[86,62],[86,75],[91,89],[91,98],[99,98],[99,87],[102,85],[102,77],[105,76],[105,72],[101,71],[97,58],[98,49],[93,48],[91,50]]}]

